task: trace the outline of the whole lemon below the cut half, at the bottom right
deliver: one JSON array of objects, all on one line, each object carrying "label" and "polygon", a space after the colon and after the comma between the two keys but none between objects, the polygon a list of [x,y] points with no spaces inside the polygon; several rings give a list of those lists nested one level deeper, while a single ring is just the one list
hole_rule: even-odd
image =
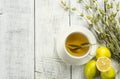
[{"label": "whole lemon below the cut half, at the bottom right", "polygon": [[116,72],[113,67],[110,68],[107,72],[101,72],[101,78],[102,79],[115,79]]}]

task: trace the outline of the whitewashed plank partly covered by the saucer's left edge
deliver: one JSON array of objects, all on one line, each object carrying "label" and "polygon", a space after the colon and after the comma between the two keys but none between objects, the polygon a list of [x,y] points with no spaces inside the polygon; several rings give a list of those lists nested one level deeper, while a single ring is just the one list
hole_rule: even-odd
[{"label": "whitewashed plank partly covered by the saucer's left edge", "polygon": [[60,0],[36,0],[36,79],[70,79],[70,67],[57,55],[56,36],[69,27]]}]

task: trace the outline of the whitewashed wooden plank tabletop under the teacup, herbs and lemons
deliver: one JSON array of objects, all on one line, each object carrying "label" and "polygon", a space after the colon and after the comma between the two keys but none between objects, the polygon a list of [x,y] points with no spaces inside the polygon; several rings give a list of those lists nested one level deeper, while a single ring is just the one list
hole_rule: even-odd
[{"label": "whitewashed wooden plank tabletop under the teacup, herbs and lemons", "polygon": [[[82,11],[76,0],[66,1]],[[0,0],[0,14],[0,79],[85,79],[84,65],[69,66],[57,55],[57,33],[86,25],[60,0]]]}]

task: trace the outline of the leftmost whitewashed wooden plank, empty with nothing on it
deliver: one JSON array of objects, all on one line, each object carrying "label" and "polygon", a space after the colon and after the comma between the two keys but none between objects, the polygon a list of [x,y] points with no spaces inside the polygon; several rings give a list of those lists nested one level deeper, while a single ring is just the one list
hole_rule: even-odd
[{"label": "leftmost whitewashed wooden plank, empty with nothing on it", "polygon": [[0,4],[0,78],[34,79],[34,1]]}]

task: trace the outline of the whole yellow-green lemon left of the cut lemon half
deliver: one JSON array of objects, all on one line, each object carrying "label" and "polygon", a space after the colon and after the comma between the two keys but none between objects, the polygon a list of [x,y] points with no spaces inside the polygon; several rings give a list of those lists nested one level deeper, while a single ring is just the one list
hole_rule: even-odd
[{"label": "whole yellow-green lemon left of the cut lemon half", "polygon": [[86,63],[84,72],[87,79],[93,79],[97,75],[96,61],[91,60]]}]

